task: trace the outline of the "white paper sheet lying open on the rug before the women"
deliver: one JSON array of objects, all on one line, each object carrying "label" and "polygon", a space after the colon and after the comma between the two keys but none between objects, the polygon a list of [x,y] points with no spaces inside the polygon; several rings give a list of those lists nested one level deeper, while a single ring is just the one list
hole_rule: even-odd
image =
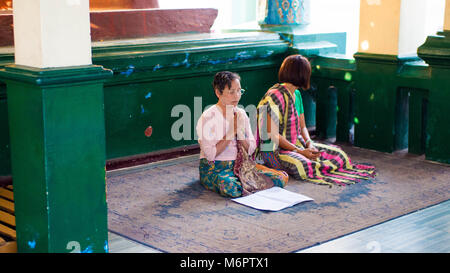
[{"label": "white paper sheet lying open on the rug before the women", "polygon": [[302,202],[313,201],[313,199],[308,196],[290,192],[280,187],[272,187],[267,190],[231,200],[255,209],[270,211],[279,211]]}]

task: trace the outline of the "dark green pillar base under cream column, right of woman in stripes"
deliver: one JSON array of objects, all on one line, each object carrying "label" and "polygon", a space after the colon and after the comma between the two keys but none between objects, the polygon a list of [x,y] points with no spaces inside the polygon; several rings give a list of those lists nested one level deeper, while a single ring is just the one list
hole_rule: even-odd
[{"label": "dark green pillar base under cream column, right of woman in stripes", "polygon": [[395,150],[397,56],[355,54],[355,145],[382,152]]}]

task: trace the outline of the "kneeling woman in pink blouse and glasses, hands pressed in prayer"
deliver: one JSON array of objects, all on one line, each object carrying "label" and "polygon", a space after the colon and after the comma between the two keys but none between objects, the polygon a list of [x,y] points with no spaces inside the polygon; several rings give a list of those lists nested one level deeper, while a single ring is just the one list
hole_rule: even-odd
[{"label": "kneeling woman in pink blouse and glasses, hands pressed in prayer", "polygon": [[[239,75],[219,72],[214,77],[213,88],[218,98],[217,104],[202,113],[196,128],[200,144],[201,184],[223,196],[239,197],[248,188],[243,188],[238,174],[255,171],[268,180],[270,186],[284,187],[288,180],[285,172],[262,165],[250,172],[244,170],[244,165],[250,165],[248,168],[256,165],[242,164],[255,151],[256,140],[247,113],[237,107],[244,92]],[[236,162],[240,164],[239,168],[235,166]],[[255,177],[254,173],[252,176]]]}]

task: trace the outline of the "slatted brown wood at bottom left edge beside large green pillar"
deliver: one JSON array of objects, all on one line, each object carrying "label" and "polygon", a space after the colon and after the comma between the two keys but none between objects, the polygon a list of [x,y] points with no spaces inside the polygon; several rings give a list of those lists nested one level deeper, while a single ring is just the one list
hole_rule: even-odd
[{"label": "slatted brown wood at bottom left edge beside large green pillar", "polygon": [[0,186],[0,253],[17,252],[13,186]]}]

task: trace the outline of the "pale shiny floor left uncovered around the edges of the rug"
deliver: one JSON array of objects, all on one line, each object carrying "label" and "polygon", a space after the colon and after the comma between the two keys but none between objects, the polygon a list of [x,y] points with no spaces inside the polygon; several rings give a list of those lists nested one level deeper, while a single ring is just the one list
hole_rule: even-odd
[{"label": "pale shiny floor left uncovered around the edges of the rug", "polygon": [[[161,252],[109,233],[111,253]],[[450,200],[298,253],[450,253]]]}]

